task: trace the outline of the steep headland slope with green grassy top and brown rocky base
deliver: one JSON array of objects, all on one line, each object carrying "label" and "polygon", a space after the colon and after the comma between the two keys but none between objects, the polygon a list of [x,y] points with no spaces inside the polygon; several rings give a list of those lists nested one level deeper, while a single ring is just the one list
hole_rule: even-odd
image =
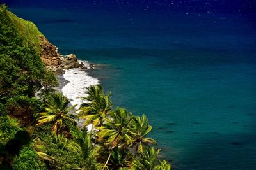
[{"label": "steep headland slope with green grassy top and brown rocky base", "polygon": [[77,61],[76,55],[61,55],[58,48],[45,38],[33,22],[19,18],[10,11],[7,11],[7,15],[24,42],[32,45],[41,56],[47,69],[61,72],[63,69],[86,68],[83,63]]}]

